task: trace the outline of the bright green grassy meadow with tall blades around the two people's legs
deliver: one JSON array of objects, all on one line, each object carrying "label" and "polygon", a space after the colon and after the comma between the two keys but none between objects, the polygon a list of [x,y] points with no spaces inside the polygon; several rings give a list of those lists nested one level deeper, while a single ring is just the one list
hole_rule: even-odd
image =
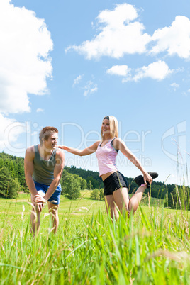
[{"label": "bright green grassy meadow with tall blades around the two people's legs", "polygon": [[56,235],[45,206],[36,238],[30,196],[0,199],[0,284],[190,284],[189,211],[144,199],[112,222],[90,192],[61,196]]}]

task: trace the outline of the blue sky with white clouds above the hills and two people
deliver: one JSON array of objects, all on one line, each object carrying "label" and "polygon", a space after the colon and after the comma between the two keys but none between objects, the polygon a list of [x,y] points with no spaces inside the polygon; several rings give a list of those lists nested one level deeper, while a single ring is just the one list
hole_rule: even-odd
[{"label": "blue sky with white clouds above the hills and two people", "polygon": [[[45,125],[86,147],[113,115],[157,181],[189,184],[189,1],[1,0],[0,35],[1,151],[24,156]],[[140,174],[121,154],[118,169]]]}]

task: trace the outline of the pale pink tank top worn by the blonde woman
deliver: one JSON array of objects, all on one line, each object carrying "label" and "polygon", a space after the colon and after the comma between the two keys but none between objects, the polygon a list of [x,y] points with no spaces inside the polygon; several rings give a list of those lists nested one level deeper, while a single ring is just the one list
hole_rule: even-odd
[{"label": "pale pink tank top worn by the blonde woman", "polygon": [[111,139],[101,147],[101,143],[96,150],[96,157],[98,159],[99,164],[99,175],[106,174],[112,171],[118,171],[116,167],[116,156],[118,155],[118,151],[113,147],[112,141],[115,138]]}]

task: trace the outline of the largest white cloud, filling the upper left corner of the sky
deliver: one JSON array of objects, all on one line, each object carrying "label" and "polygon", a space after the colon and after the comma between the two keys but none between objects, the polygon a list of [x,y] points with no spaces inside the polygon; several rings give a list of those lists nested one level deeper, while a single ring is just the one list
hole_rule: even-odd
[{"label": "largest white cloud, filling the upper left corner of the sky", "polygon": [[45,94],[52,74],[50,32],[33,11],[1,0],[0,37],[0,112],[30,111],[28,94]]}]

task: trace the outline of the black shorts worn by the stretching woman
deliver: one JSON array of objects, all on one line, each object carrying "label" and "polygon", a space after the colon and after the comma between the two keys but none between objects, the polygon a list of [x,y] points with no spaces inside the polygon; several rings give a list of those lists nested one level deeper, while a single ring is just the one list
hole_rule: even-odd
[{"label": "black shorts worn by the stretching woman", "polygon": [[113,195],[113,192],[120,189],[121,186],[128,188],[128,181],[120,172],[114,172],[104,181],[104,195]]}]

